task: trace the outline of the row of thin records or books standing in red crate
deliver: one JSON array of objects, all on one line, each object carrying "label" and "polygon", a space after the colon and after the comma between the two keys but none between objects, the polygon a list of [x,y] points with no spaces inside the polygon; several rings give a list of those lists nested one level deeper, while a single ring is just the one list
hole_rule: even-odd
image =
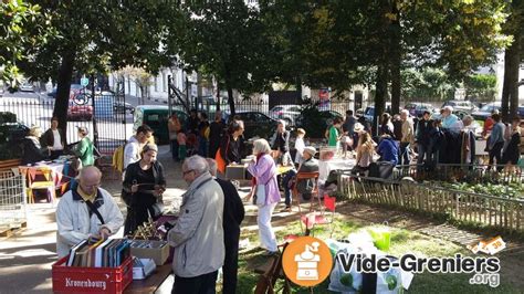
[{"label": "row of thin records or books standing in red crate", "polygon": [[118,267],[130,256],[127,239],[83,240],[70,251],[67,266]]}]

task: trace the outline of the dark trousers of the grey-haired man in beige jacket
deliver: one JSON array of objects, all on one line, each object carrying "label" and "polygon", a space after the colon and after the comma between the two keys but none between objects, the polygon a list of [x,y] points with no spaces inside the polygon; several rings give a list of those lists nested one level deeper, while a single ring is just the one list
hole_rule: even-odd
[{"label": "dark trousers of the grey-haired man in beige jacket", "polygon": [[218,271],[210,272],[192,277],[181,277],[175,275],[175,283],[172,284],[172,294],[214,294],[217,285]]}]

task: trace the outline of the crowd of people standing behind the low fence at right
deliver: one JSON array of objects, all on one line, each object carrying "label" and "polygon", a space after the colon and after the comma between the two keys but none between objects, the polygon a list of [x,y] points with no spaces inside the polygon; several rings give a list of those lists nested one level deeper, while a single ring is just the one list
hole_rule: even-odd
[{"label": "crowd of people standing behind the low fence at right", "polygon": [[[329,146],[356,151],[355,172],[368,171],[376,157],[379,157],[377,161],[398,168],[416,162],[418,171],[432,170],[438,164],[479,164],[474,119],[470,115],[460,119],[451,106],[443,107],[439,114],[426,111],[420,117],[411,117],[407,109],[395,116],[385,113],[380,117],[378,137],[373,137],[369,127],[360,122],[347,111],[344,122],[335,118],[326,129]],[[514,170],[520,159],[520,117],[503,124],[496,111],[486,119],[482,136],[492,168]],[[412,161],[413,156],[416,161]]]}]

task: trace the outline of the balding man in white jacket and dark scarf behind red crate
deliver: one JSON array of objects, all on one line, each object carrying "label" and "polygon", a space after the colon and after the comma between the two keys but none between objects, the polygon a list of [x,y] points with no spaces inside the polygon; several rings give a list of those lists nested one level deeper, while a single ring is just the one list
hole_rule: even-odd
[{"label": "balding man in white jacket and dark scarf behind red crate", "polygon": [[81,169],[78,183],[62,196],[56,208],[56,254],[66,256],[82,240],[116,233],[124,224],[118,206],[109,192],[99,188],[102,172],[94,166]]}]

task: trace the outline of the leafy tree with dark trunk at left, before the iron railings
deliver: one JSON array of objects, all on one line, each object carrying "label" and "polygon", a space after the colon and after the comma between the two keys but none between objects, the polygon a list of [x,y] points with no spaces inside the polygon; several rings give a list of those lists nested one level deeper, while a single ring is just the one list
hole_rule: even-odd
[{"label": "leafy tree with dark trunk at left, before the iron railings", "polygon": [[[160,46],[167,24],[177,23],[178,8],[160,0],[146,1],[38,1],[57,35],[38,44],[31,59],[21,63],[27,75],[56,78],[53,115],[66,128],[73,73],[105,73],[125,65],[156,72],[172,56]],[[172,32],[171,32],[172,33]]]}]

